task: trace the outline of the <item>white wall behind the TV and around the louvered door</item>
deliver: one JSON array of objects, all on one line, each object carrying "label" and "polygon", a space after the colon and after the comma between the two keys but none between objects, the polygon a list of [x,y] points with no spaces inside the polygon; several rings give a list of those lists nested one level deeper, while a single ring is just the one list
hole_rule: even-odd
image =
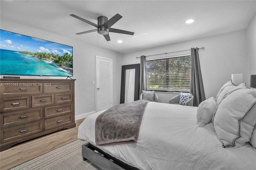
[{"label": "white wall behind the TV and around the louvered door", "polygon": [[[1,29],[52,42],[73,46],[73,75],[75,81],[75,116],[82,119],[95,112],[95,55],[113,59],[113,105],[120,103],[122,54],[96,47],[43,30],[1,19]],[[66,79],[66,77],[20,76],[33,79]]]}]

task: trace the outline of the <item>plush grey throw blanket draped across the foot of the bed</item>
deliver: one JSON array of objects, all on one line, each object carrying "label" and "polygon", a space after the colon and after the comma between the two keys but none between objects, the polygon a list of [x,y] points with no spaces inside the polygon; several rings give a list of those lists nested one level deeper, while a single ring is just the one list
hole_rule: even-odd
[{"label": "plush grey throw blanket draped across the foot of the bed", "polygon": [[138,100],[119,104],[101,113],[95,122],[96,144],[136,142],[147,103]]}]

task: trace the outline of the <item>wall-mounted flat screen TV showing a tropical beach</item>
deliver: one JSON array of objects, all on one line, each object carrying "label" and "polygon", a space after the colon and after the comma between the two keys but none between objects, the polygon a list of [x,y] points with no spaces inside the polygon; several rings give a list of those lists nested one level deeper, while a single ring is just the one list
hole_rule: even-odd
[{"label": "wall-mounted flat screen TV showing a tropical beach", "polygon": [[0,30],[0,75],[73,76],[73,47]]}]

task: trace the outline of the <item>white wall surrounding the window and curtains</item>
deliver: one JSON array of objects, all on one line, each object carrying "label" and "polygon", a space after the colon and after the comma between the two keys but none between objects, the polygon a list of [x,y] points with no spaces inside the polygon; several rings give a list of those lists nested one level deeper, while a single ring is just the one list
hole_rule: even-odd
[{"label": "white wall surrounding the window and curtains", "polygon": [[[191,47],[205,47],[204,50],[199,50],[199,58],[206,99],[212,96],[216,97],[220,87],[231,79],[232,73],[243,73],[244,77],[249,76],[246,30],[126,53],[123,56],[122,65],[140,63],[140,59],[136,59],[136,57],[141,55],[168,53]],[[246,83],[249,83],[248,80]],[[161,95],[164,96],[164,99],[159,97],[159,100],[165,103],[168,98],[173,96],[172,93]],[[168,97],[169,95],[170,97]]]}]

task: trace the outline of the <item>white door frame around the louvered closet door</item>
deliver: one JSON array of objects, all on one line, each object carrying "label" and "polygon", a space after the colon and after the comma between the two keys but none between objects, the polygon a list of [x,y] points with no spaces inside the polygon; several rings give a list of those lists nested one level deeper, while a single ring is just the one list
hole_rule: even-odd
[{"label": "white door frame around the louvered closet door", "polygon": [[107,58],[107,57],[100,57],[98,55],[95,55],[95,111],[98,112],[98,109],[97,109],[97,88],[98,88],[98,81],[97,81],[97,69],[98,69],[98,65],[97,65],[97,59],[105,59],[105,60],[108,60],[108,61],[111,61],[111,64],[110,64],[110,68],[111,68],[111,92],[110,92],[110,97],[111,97],[111,106],[113,105],[113,59],[111,58]]}]

